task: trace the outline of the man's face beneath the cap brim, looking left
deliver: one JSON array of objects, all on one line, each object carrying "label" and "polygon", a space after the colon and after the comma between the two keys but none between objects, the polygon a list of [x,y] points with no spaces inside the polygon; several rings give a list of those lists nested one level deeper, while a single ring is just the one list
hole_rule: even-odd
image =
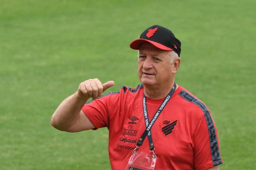
[{"label": "man's face beneath the cap brim, looking left", "polygon": [[138,53],[138,76],[142,84],[159,86],[171,83],[173,64],[171,51],[164,51],[150,43],[143,43]]}]

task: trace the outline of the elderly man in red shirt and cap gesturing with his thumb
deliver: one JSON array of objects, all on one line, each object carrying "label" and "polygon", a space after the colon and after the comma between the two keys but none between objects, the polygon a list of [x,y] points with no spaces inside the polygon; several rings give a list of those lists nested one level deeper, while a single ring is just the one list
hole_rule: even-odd
[{"label": "elderly man in red shirt and cap gesturing with his thumb", "polygon": [[[222,159],[210,110],[174,82],[181,42],[154,25],[130,47],[139,50],[142,84],[101,96],[114,81],[86,80],[57,108],[52,126],[68,132],[107,127],[114,170],[219,169]],[[87,102],[89,98],[93,100]]]}]

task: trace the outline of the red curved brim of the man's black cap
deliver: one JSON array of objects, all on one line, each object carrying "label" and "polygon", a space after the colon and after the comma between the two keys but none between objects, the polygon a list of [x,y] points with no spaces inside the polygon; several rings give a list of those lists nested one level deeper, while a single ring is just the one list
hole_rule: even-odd
[{"label": "red curved brim of the man's black cap", "polygon": [[163,44],[160,44],[158,42],[154,42],[154,41],[150,41],[150,40],[146,40],[146,39],[136,39],[133,42],[130,43],[130,47],[132,49],[139,49],[141,44],[145,43],[145,42],[149,42],[152,45],[154,45],[155,47],[162,49],[162,50],[167,50],[167,51],[171,51],[173,50],[172,48],[169,48]]}]

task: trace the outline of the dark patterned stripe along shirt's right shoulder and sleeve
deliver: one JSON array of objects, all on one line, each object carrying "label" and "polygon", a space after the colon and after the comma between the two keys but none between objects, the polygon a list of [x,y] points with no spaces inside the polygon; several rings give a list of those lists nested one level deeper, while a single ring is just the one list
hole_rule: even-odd
[{"label": "dark patterned stripe along shirt's right shoulder and sleeve", "polygon": [[195,105],[197,105],[204,112],[205,120],[208,126],[209,136],[210,136],[211,156],[212,156],[213,165],[216,166],[216,165],[222,164],[218,141],[217,141],[217,135],[216,135],[213,121],[212,121],[212,117],[210,115],[210,111],[201,101],[196,99],[193,95],[187,93],[185,90],[181,90],[179,95],[186,101],[192,102]]}]

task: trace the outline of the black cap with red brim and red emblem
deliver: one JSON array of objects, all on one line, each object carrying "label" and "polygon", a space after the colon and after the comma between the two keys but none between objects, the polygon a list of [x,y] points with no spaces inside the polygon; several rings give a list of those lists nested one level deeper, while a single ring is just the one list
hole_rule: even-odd
[{"label": "black cap with red brim and red emblem", "polygon": [[181,42],[174,36],[171,30],[159,25],[153,25],[146,29],[139,39],[131,42],[132,49],[139,49],[142,43],[149,42],[159,49],[175,51],[180,56]]}]

